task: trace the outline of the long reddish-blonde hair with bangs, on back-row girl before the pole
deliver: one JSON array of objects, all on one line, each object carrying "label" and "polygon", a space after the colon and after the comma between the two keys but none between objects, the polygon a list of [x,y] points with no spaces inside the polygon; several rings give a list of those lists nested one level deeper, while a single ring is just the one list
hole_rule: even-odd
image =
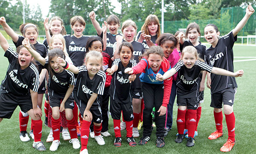
[{"label": "long reddish-blonde hair with bangs, on back-row girl before the pole", "polygon": [[159,19],[156,15],[148,15],[148,17],[145,19],[145,23],[141,27],[141,30],[144,31],[146,35],[149,35],[148,25],[152,22],[157,24],[157,32],[156,33],[157,33],[157,38],[158,38],[161,34],[161,29],[160,29]]}]

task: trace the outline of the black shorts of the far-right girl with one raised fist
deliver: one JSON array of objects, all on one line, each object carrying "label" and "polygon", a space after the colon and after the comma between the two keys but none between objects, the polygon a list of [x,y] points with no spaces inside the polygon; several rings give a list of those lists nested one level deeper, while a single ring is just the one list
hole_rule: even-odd
[{"label": "black shorts of the far-right girl with one raised fist", "polygon": [[222,108],[223,105],[234,105],[235,95],[236,95],[237,87],[227,88],[221,90],[217,93],[212,93],[212,102],[210,107],[212,108]]}]

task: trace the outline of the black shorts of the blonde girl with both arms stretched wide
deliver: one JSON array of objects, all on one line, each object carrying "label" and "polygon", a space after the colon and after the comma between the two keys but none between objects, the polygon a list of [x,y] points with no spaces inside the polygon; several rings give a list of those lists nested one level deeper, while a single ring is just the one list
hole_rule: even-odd
[{"label": "black shorts of the blonde girl with both arms stretched wide", "polygon": [[177,96],[177,105],[186,106],[187,109],[196,110],[198,108],[199,99],[198,97],[193,98],[180,98]]}]

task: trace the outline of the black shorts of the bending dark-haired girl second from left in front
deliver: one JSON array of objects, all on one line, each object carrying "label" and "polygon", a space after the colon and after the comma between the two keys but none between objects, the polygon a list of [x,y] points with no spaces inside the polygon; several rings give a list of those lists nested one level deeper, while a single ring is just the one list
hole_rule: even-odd
[{"label": "black shorts of the bending dark-haired girl second from left in front", "polygon": [[[49,104],[50,104],[51,108],[60,107],[62,100],[63,99],[60,99],[60,98],[49,95]],[[65,102],[65,108],[70,108],[70,109],[73,110],[73,108],[74,108],[74,98],[72,97],[72,94],[70,95],[70,97]]]}]

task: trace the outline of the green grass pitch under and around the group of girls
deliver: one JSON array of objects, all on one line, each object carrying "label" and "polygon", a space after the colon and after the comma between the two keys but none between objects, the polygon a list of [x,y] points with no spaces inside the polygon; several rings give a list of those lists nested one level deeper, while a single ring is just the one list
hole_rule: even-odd
[{"label": "green grass pitch under and around the group of girls", "polygon": [[[234,56],[251,56],[256,57],[256,46],[234,46]],[[3,50],[0,49],[0,79],[6,75],[6,69],[8,67],[7,58],[3,57]],[[234,58],[234,60],[240,60],[241,58]],[[246,58],[243,58],[246,59]],[[253,148],[255,143],[255,76],[256,71],[253,69],[255,61],[243,61],[234,62],[235,71],[243,69],[244,76],[236,78],[238,83],[238,92],[236,93],[234,113],[236,116],[236,144],[229,154],[253,154],[256,153],[256,148]],[[177,125],[175,119],[177,118],[177,107],[174,107],[174,124],[172,130],[168,136],[165,137],[166,146],[164,148],[156,148],[155,146],[155,128],[151,135],[151,140],[144,146],[137,145],[136,147],[130,147],[125,141],[126,131],[122,131],[122,146],[117,148],[113,146],[114,131],[113,131],[113,120],[110,117],[109,120],[109,132],[111,137],[105,137],[106,144],[100,146],[94,139],[89,138],[88,151],[90,154],[221,154],[219,150],[221,146],[227,140],[227,125],[225,122],[225,116],[223,119],[223,131],[224,136],[216,139],[209,140],[208,136],[215,131],[215,122],[213,117],[213,109],[210,105],[210,90],[205,89],[205,100],[202,103],[202,115],[198,125],[198,137],[195,137],[195,146],[188,148],[186,147],[186,140],[182,143],[175,143],[175,134],[177,133]],[[41,152],[36,151],[32,148],[32,140],[29,142],[21,142],[19,139],[19,110],[17,107],[12,115],[11,119],[3,119],[0,123],[0,153],[1,154],[39,154]],[[43,118],[44,120],[44,111]],[[28,125],[28,131],[30,129],[30,120]],[[140,137],[142,136],[143,130],[140,131]],[[49,151],[51,143],[46,143],[49,128],[43,125],[42,141],[47,148],[44,154],[52,154]],[[80,137],[79,137],[80,140]],[[139,139],[137,139],[137,142]],[[64,141],[61,137],[61,145],[56,154],[65,153],[79,153],[79,150],[74,150],[72,145],[68,141]]]}]

